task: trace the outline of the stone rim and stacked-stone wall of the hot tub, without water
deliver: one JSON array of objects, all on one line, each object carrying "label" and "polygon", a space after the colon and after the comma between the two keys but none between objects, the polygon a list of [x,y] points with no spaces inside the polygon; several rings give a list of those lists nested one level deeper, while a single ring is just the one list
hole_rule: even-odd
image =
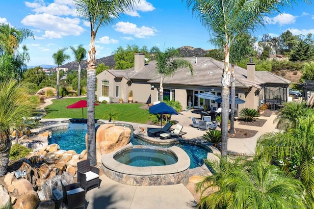
[{"label": "stone rim and stacked-stone wall of the hot tub, without water", "polygon": [[[131,146],[132,145],[129,144],[117,151],[103,154],[103,166],[101,169],[107,177],[116,182],[133,186],[170,185],[179,183],[186,185],[188,183],[190,158],[180,147],[157,148],[160,150],[167,149],[176,155],[178,161],[172,165],[135,167],[120,163],[113,158],[116,153],[129,149]],[[138,145],[134,147],[149,149],[150,146]]]}]

